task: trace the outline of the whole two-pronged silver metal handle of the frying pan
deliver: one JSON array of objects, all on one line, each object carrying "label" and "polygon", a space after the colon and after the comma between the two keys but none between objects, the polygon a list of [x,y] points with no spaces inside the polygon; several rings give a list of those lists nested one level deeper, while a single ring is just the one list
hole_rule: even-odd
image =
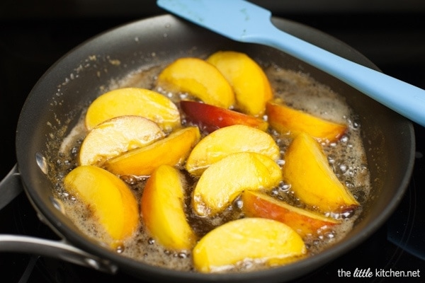
[{"label": "whole two-pronged silver metal handle of the frying pan", "polygon": [[[23,191],[21,174],[15,165],[0,182],[0,210]],[[91,267],[101,272],[114,274],[118,267],[108,260],[103,260],[80,250],[65,241],[53,241],[31,236],[0,235],[0,253],[32,253],[72,262],[84,267]]]}]

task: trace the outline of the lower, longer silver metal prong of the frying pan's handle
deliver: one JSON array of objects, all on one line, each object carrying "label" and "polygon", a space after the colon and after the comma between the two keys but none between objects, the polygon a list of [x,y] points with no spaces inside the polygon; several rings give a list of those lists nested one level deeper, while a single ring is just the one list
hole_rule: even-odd
[{"label": "lower, longer silver metal prong of the frying pan's handle", "polygon": [[110,261],[86,253],[65,241],[45,240],[30,236],[0,235],[0,252],[43,255],[110,274],[115,274],[118,271],[118,267]]}]

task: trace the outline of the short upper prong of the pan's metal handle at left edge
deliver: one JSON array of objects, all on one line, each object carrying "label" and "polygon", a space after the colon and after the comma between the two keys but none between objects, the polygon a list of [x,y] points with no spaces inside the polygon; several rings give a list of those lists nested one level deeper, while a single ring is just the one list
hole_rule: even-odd
[{"label": "short upper prong of the pan's metal handle at left edge", "polygon": [[18,166],[15,164],[6,177],[0,181],[0,210],[6,207],[23,190]]}]

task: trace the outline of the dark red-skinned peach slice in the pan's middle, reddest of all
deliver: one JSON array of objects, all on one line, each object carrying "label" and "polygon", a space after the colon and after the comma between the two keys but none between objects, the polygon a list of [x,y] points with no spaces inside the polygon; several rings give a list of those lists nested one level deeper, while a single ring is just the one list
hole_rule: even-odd
[{"label": "dark red-skinned peach slice in the pan's middle, reddest of all", "polygon": [[209,133],[232,125],[246,125],[262,131],[266,131],[268,128],[268,123],[257,117],[206,103],[182,100],[180,107],[188,120]]}]

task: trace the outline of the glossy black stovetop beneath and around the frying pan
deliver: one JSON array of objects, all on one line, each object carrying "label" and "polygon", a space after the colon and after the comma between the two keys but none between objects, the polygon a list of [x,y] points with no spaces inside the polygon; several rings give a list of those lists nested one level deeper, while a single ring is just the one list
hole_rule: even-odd
[{"label": "glossy black stovetop beneath and around the frying pan", "polygon": [[[0,18],[0,123],[4,132],[0,154],[1,176],[15,164],[14,136],[18,114],[35,82],[65,52],[98,33],[145,16],[161,13],[151,9],[132,16],[65,16]],[[380,14],[278,13],[334,35],[375,62],[386,74],[425,88],[424,9],[386,11]],[[275,13],[276,15],[276,13]],[[1,16],[1,13],[0,13]],[[424,110],[425,111],[425,110]],[[339,272],[356,268],[414,271],[420,277],[402,282],[425,282],[425,128],[414,124],[416,160],[412,180],[395,213],[376,233],[357,248],[295,282],[341,279]],[[3,177],[2,177],[3,178]],[[40,223],[26,195],[16,197],[0,211],[0,233],[57,239]],[[129,275],[107,275],[60,260],[38,255],[0,253],[0,271],[10,282],[140,282]],[[353,278],[344,282],[400,282],[397,277]]]}]

